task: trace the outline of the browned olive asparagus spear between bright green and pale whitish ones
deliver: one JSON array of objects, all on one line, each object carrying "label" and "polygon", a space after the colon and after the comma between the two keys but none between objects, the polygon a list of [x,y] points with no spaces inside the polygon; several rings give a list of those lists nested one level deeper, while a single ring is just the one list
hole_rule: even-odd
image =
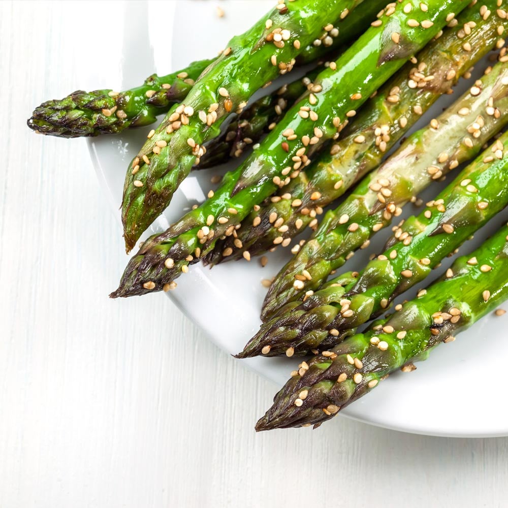
[{"label": "browned olive asparagus spear between bright green and pale whitish ones", "polygon": [[[418,53],[418,65],[408,62],[362,107],[331,151],[265,200],[260,210],[252,211],[234,237],[218,240],[203,263],[241,259],[244,252],[250,258],[276,245],[288,245],[307,226],[315,230],[323,207],[378,166],[421,114],[496,45],[499,26],[508,29],[506,18],[485,16],[496,8],[497,0],[489,0],[462,11],[455,26]],[[224,252],[232,253],[224,256]],[[274,285],[272,292],[277,289]]]}]

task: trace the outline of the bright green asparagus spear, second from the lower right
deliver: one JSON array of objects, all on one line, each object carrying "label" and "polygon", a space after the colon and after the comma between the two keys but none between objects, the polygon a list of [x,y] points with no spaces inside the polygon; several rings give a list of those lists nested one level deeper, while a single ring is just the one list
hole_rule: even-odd
[{"label": "bright green asparagus spear, second from the lower right", "polygon": [[[487,148],[417,216],[395,228],[385,251],[345,288],[341,299],[307,304],[275,316],[245,346],[240,357],[285,351],[290,356],[320,349],[320,341],[340,342],[344,333],[377,316],[390,302],[422,281],[442,259],[508,204],[508,133]],[[410,161],[408,161],[410,164]],[[315,301],[321,295],[316,292]],[[311,300],[313,302],[314,300]],[[305,302],[306,303],[306,302]],[[333,307],[333,310],[331,309]],[[311,312],[312,322],[306,315]],[[294,316],[294,317],[293,317]],[[309,339],[309,338],[310,339]],[[269,347],[268,347],[269,346]]]}]

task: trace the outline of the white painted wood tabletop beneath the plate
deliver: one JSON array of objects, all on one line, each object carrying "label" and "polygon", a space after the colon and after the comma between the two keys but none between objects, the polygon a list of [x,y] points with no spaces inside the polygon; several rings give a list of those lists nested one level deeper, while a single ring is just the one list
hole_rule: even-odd
[{"label": "white painted wood tabletop beneath the plate", "polygon": [[257,435],[274,385],[167,298],[107,298],[125,258],[86,144],[24,122],[114,85],[118,5],[0,2],[0,507],[505,506],[508,438]]}]

